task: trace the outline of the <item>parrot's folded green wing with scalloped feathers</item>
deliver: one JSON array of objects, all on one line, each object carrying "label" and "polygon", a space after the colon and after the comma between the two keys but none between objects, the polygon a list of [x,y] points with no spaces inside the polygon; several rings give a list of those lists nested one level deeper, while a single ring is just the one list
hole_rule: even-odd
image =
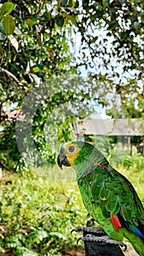
[{"label": "parrot's folded green wing with scalloped feathers", "polygon": [[[101,168],[101,176],[98,168]],[[142,233],[144,239],[143,205],[132,184],[113,167],[96,166],[93,176],[91,196],[99,203],[104,217],[118,217],[123,227],[137,232],[137,235],[139,230],[141,238]]]}]

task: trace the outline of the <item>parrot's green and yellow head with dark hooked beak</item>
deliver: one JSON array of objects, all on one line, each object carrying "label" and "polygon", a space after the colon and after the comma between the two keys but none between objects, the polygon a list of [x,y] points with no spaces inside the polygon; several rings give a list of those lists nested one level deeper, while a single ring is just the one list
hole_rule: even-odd
[{"label": "parrot's green and yellow head with dark hooked beak", "polygon": [[94,146],[83,141],[71,141],[61,145],[58,154],[58,166],[76,167],[80,163],[87,161],[94,152]]}]

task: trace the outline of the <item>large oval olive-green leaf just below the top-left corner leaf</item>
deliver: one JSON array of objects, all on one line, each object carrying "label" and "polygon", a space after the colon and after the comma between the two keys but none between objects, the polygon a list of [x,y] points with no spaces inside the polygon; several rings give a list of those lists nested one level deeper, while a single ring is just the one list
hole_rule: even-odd
[{"label": "large oval olive-green leaf just below the top-left corner leaf", "polygon": [[3,20],[4,30],[8,35],[12,34],[15,31],[15,20],[11,15],[7,15]]}]

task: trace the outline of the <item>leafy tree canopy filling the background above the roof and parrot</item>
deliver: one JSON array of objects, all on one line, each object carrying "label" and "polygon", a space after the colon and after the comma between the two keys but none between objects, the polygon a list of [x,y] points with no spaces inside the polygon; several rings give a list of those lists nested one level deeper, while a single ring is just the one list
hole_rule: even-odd
[{"label": "leafy tree canopy filling the background above the roof and parrot", "polygon": [[[0,57],[2,167],[53,163],[91,100],[112,116],[143,116],[141,1],[2,0]],[[89,78],[76,75],[83,69]]]}]

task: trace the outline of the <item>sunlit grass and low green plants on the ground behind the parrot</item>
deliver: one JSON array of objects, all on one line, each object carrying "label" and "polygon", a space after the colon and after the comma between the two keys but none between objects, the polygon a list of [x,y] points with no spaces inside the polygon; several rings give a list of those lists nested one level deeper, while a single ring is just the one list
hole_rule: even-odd
[{"label": "sunlit grass and low green plants on the ground behind the parrot", "polygon": [[[144,203],[144,169],[118,165],[117,170],[134,185]],[[5,176],[1,186],[0,252],[17,256],[67,255],[80,234],[74,227],[86,225],[76,181],[49,181],[29,172]]]}]

